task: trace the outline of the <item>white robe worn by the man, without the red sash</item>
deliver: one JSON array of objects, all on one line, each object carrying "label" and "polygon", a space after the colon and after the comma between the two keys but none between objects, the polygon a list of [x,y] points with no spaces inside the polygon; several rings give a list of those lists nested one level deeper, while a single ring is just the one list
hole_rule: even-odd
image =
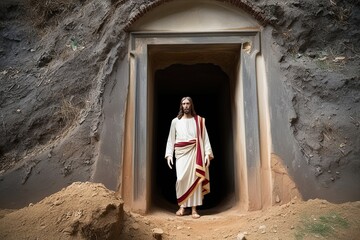
[{"label": "white robe worn by the man, without the red sash", "polygon": [[[204,120],[205,121],[205,120]],[[194,141],[197,139],[197,131],[196,131],[196,121],[194,118],[174,118],[171,122],[169,137],[166,144],[166,153],[165,158],[168,156],[173,156],[173,152],[175,150],[175,158],[176,158],[176,195],[178,199],[179,205],[183,207],[192,207],[202,205],[203,200],[203,190],[201,184],[197,184],[195,189],[191,190],[191,194],[186,197],[184,201],[179,201],[181,196],[184,193],[189,191],[189,188],[198,178],[196,176],[196,148],[189,146],[184,147],[179,150],[175,149],[175,144],[179,142],[189,142],[191,140]],[[203,136],[203,156],[202,159],[205,159],[206,155],[210,156],[210,159],[213,158],[213,153],[208,137],[208,133],[206,131],[206,127],[204,126],[204,136]],[[204,160],[205,161],[205,160]],[[205,165],[205,163],[204,163]],[[207,179],[208,169],[204,168],[206,171]],[[210,188],[209,188],[210,191]]]}]

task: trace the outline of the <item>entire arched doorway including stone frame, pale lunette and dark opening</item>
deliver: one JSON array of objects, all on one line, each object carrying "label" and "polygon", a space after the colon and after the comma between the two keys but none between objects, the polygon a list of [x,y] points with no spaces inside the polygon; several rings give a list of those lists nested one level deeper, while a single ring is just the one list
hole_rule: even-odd
[{"label": "entire arched doorway including stone frame, pale lunette and dark opening", "polygon": [[[178,9],[184,12],[170,14]],[[218,21],[204,22],[216,12]],[[208,119],[216,158],[223,159],[221,163],[214,160],[220,171],[212,173],[211,178],[215,183],[216,178],[224,177],[220,173],[229,173],[224,185],[212,187],[214,197],[210,197],[204,207],[216,211],[223,202],[230,203],[229,198],[243,209],[260,209],[262,179],[256,68],[260,26],[246,13],[214,1],[171,2],[163,9],[155,9],[152,17],[151,14],[146,17],[153,17],[154,21],[142,18],[130,29],[129,92],[121,177],[125,202],[139,212],[163,206],[161,202],[171,206],[175,195],[167,191],[174,191],[175,181],[166,175],[164,144],[180,98],[192,95],[198,113]],[[196,23],[194,28],[183,24],[188,18]],[[236,30],[227,28],[229,19],[231,26],[237,26]],[[200,22],[203,24],[199,25]],[[177,23],[181,23],[181,28],[176,28]],[[216,80],[209,80],[213,76]],[[191,91],[181,90],[184,81],[192,85],[188,88]],[[212,111],[212,106],[217,106],[216,111]],[[164,108],[169,109],[167,119],[161,112]],[[218,115],[226,117],[223,120]],[[159,118],[164,122],[159,122]],[[219,138],[225,140],[217,142]],[[215,167],[212,166],[214,170]],[[169,180],[169,186],[161,182],[163,179]],[[219,195],[224,197],[217,198]]]}]

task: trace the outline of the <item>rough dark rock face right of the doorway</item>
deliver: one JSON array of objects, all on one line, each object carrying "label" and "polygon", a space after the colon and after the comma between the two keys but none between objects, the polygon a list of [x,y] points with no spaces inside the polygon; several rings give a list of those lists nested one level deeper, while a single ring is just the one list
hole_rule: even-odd
[{"label": "rough dark rock face right of the doorway", "polygon": [[[308,165],[303,175],[319,183],[307,195],[335,202],[359,198],[347,187],[359,181],[360,169],[360,9],[355,2],[293,1],[272,10],[294,110],[290,128]],[[329,188],[337,191],[327,195]]]}]

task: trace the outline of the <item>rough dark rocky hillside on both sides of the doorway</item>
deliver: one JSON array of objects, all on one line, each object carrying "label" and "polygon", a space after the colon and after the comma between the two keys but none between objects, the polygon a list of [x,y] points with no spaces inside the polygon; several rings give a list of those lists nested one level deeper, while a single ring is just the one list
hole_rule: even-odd
[{"label": "rough dark rocky hillside on both sides of the doorway", "polygon": [[[144,9],[164,1],[59,0],[47,8],[41,2],[30,8],[28,2],[34,4],[0,3],[0,189],[26,185],[51,170],[56,184],[34,189],[36,201],[69,182],[91,179],[104,88],[115,84],[108,76],[127,51],[129,34],[123,30]],[[292,131],[299,161],[307,164],[304,175],[322,186],[306,196],[326,198],[323,192],[338,182],[358,182],[358,1],[226,2],[249,6],[273,28],[291,106],[284,127]],[[346,196],[331,198],[359,199]],[[0,202],[15,207],[29,199]]]}]

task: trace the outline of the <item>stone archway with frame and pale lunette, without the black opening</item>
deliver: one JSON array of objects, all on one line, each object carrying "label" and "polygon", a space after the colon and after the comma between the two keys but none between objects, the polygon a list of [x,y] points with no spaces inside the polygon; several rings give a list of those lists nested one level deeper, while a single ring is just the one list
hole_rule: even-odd
[{"label": "stone archway with frame and pale lunette, without the black opening", "polygon": [[[153,126],[157,120],[152,114],[154,109],[158,111],[154,107],[158,101],[156,72],[174,64],[213,64],[229,77],[231,89],[227,98],[231,126],[227,131],[231,129],[233,134],[225,136],[231,153],[222,154],[229,163],[224,167],[226,171],[233,169],[233,178],[228,181],[233,185],[229,192],[234,193],[229,196],[235,199],[233,206],[260,209],[265,191],[261,182],[264,176],[270,176],[261,174],[262,165],[269,162],[261,159],[260,149],[257,56],[261,50],[261,27],[246,13],[218,2],[175,1],[171,4],[163,9],[158,7],[130,29],[130,85],[121,189],[125,201],[133,210],[146,212],[154,199],[152,182],[156,180],[152,174],[156,165],[153,162],[158,158],[154,156],[153,145],[157,133]],[[179,9],[182,12],[171,14]],[[218,21],[205,21],[214,14],[220,17]],[[152,18],[155,20],[151,21]],[[196,24],[186,24],[186,21],[183,24],[181,19],[190,19]],[[229,26],[229,22],[236,26]],[[175,23],[181,26],[172,29],[177,26]],[[168,31],[164,32],[165,29]],[[177,104],[174,107],[177,108]]]}]

